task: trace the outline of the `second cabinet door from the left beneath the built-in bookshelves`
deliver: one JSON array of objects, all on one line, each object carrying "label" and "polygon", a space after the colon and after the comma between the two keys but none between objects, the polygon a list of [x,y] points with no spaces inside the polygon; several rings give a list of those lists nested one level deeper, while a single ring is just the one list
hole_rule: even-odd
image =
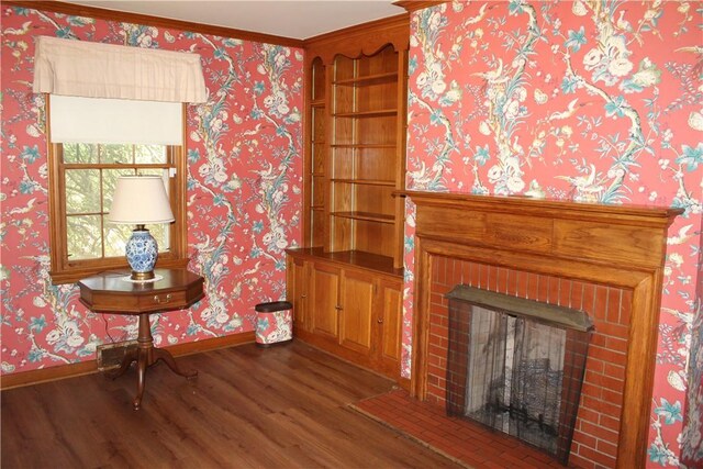
[{"label": "second cabinet door from the left beneath the built-in bookshelves", "polygon": [[313,332],[335,339],[339,324],[339,276],[338,268],[317,263],[312,265],[310,311]]}]

